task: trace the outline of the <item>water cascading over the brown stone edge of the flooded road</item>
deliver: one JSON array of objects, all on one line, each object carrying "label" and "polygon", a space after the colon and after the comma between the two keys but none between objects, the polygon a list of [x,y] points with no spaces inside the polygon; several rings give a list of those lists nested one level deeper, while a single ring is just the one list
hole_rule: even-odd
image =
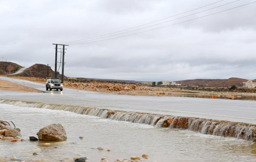
[{"label": "water cascading over the brown stone edge of the flooded road", "polygon": [[16,106],[35,107],[43,109],[63,110],[82,115],[93,115],[110,120],[128,121],[152,125],[155,128],[187,129],[222,137],[234,137],[237,139],[256,142],[256,125],[249,123],[230,122],[225,120],[211,120],[197,117],[180,117],[172,115],[160,115],[143,112],[127,112],[111,109],[99,109],[87,106],[58,105],[41,102],[25,102],[13,100],[1,100],[0,103]]}]

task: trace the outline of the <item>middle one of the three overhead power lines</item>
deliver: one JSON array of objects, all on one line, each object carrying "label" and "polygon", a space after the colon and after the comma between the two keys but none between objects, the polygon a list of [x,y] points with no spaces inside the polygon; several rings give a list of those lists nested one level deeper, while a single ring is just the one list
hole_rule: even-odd
[{"label": "middle one of the three overhead power lines", "polygon": [[[152,27],[152,26],[156,26],[156,25],[160,25],[160,24],[167,23],[167,22],[171,22],[171,21],[174,21],[174,20],[179,20],[179,19],[182,19],[182,18],[185,18],[185,17],[189,17],[189,16],[192,16],[192,15],[195,15],[195,14],[199,14],[199,13],[202,13],[202,12],[205,12],[205,11],[212,10],[212,9],[215,9],[215,8],[219,8],[219,7],[222,7],[222,6],[226,6],[226,5],[229,5],[229,4],[231,4],[231,3],[238,2],[238,1],[240,1],[240,0],[235,0],[235,1],[233,1],[233,2],[226,3],[226,4],[223,4],[223,5],[221,5],[221,6],[216,6],[216,7],[213,7],[213,8],[209,8],[209,9],[204,10],[204,11],[199,11],[199,12],[196,12],[196,13],[193,13],[193,14],[189,14],[189,15],[186,15],[186,16],[183,16],[183,17],[178,17],[178,18],[176,18],[176,19],[168,20],[168,21],[165,21],[165,22],[160,22],[160,23],[157,23],[157,24],[154,24],[154,25],[149,25],[149,26],[143,27],[143,28],[134,29],[134,30],[132,30],[132,31],[126,31],[126,32],[122,32],[122,33],[119,33],[119,34],[114,34],[114,35],[111,35],[111,36],[117,36],[117,35],[120,35],[120,34],[130,33],[130,32],[133,32],[133,31],[138,31],[138,30],[141,30],[141,29],[144,29],[144,28],[149,28],[149,27]],[[108,37],[111,37],[111,36],[104,36],[104,37],[100,37],[100,38],[94,38],[94,39],[89,39],[89,40],[84,40],[84,41],[77,41],[77,42],[73,42],[73,43],[88,42],[88,41],[90,42],[90,41],[92,41],[92,40],[108,38]],[[73,44],[73,43],[70,43],[70,44]]]}]

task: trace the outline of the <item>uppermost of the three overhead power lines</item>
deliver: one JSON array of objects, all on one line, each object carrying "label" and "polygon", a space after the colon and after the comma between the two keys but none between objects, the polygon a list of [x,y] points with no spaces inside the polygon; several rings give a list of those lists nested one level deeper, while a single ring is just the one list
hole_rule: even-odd
[{"label": "uppermost of the three overhead power lines", "polygon": [[159,22],[159,21],[161,21],[161,20],[166,20],[166,19],[169,19],[169,18],[171,18],[171,17],[178,16],[178,15],[181,15],[181,14],[186,14],[186,13],[188,13],[188,12],[195,11],[195,10],[198,10],[198,9],[200,9],[200,8],[207,7],[207,6],[211,6],[211,5],[215,4],[215,3],[219,3],[219,2],[222,2],[222,1],[224,1],[224,0],[220,0],[220,1],[217,1],[217,2],[214,2],[214,3],[210,3],[210,4],[205,5],[205,6],[201,6],[201,7],[198,7],[198,8],[192,9],[192,10],[189,10],[189,11],[182,12],[182,13],[180,13],[180,14],[175,14],[175,15],[172,15],[172,16],[170,16],[170,17],[166,17],[166,18],[163,18],[163,19],[160,19],[160,20],[155,20],[155,21],[152,21],[152,22],[148,22],[148,23],[145,23],[145,24],[142,24],[142,25],[138,25],[138,26],[132,27],[132,28],[127,28],[127,29],[124,29],[124,30],[121,30],[121,31],[115,31],[115,32],[112,32],[112,33],[103,34],[103,35],[99,35],[99,36],[94,36],[94,37],[91,37],[91,38],[79,39],[79,40],[68,41],[68,42],[63,42],[63,43],[79,42],[79,41],[82,41],[82,40],[93,39],[93,38],[97,38],[97,37],[101,37],[101,36],[106,36],[106,35],[110,35],[110,34],[119,33],[119,32],[122,32],[122,31],[127,31],[127,30],[130,30],[130,29],[138,28],[138,27],[141,27],[141,26],[144,26],[144,25],[148,25],[148,24],[151,24],[151,23],[154,23],[154,22]]}]

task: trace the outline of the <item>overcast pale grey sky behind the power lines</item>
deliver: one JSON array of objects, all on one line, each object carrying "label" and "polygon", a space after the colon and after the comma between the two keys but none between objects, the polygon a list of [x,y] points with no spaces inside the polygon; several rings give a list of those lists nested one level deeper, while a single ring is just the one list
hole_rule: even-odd
[{"label": "overcast pale grey sky behind the power lines", "polygon": [[52,43],[65,43],[69,77],[255,79],[256,3],[224,11],[253,2],[234,1],[0,0],[0,59],[54,69]]}]

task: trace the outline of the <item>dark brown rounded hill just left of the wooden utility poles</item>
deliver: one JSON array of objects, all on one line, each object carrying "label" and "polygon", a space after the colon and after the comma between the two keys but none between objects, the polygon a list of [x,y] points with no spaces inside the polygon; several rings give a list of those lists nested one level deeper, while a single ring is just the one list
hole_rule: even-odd
[{"label": "dark brown rounded hill just left of the wooden utility poles", "polygon": [[[54,77],[54,71],[52,70],[52,68],[48,67],[48,70],[49,77]],[[25,69],[22,73],[17,74],[17,76],[47,78],[47,65],[34,64],[31,67]],[[61,77],[61,74],[58,77]]]}]

